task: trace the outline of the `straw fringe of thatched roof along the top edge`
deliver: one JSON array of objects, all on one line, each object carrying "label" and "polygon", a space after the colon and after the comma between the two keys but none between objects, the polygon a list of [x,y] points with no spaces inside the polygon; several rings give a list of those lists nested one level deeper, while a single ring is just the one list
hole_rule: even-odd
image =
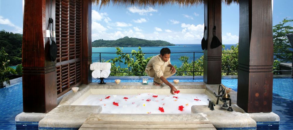
[{"label": "straw fringe of thatched roof along the top edge", "polygon": [[[164,6],[168,4],[178,4],[183,7],[198,6],[204,3],[205,0],[101,0],[101,7],[109,6],[110,3],[117,6]],[[222,0],[226,5],[238,3],[239,0]],[[93,4],[99,5],[99,0],[92,0]]]}]

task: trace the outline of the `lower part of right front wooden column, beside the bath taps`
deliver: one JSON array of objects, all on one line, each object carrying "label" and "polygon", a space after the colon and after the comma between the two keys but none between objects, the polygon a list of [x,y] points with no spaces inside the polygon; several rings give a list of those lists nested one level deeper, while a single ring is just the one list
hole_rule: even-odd
[{"label": "lower part of right front wooden column, beside the bath taps", "polygon": [[247,71],[239,65],[237,105],[248,113],[272,111],[272,69],[258,67]]}]

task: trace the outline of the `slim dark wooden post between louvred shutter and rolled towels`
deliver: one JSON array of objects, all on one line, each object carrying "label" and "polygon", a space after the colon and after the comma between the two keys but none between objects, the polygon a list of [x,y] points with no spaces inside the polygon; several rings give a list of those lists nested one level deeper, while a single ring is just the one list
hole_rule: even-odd
[{"label": "slim dark wooden post between louvred shutter and rolled towels", "polygon": [[82,84],[89,84],[92,82],[91,76],[91,56],[92,56],[92,48],[91,48],[91,0],[83,0],[82,1]]}]

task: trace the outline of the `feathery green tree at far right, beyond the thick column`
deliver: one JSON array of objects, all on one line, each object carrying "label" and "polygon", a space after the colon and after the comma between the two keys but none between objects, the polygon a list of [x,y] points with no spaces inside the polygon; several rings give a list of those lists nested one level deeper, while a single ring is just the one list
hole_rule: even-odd
[{"label": "feathery green tree at far right, beyond the thick column", "polygon": [[[289,25],[289,22],[293,20],[285,18],[280,24],[273,26],[274,52],[288,52],[289,48],[292,48],[286,36],[293,33],[293,27]],[[274,60],[280,59],[281,63],[292,61],[292,53],[274,53],[274,56]]]}]

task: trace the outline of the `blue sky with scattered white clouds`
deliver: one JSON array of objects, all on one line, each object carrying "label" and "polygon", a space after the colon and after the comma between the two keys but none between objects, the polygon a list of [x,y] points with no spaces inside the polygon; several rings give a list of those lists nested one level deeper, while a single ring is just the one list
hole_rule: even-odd
[{"label": "blue sky with scattered white clouds", "polygon": [[[293,0],[273,1],[273,25],[293,19]],[[292,25],[292,24],[291,24]],[[23,32],[23,0],[0,0],[0,30]],[[203,5],[182,7],[92,6],[92,41],[125,36],[163,40],[173,44],[200,44],[204,30]],[[239,40],[239,5],[222,4],[222,43]]]}]

